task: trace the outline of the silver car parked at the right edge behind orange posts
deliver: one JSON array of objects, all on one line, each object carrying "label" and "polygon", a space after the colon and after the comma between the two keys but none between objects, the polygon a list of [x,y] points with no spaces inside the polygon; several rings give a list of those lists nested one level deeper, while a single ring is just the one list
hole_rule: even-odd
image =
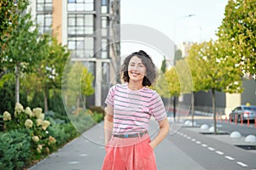
[{"label": "silver car parked at the right edge behind orange posts", "polygon": [[239,105],[230,113],[230,121],[241,122],[254,120],[256,116],[256,105]]}]

